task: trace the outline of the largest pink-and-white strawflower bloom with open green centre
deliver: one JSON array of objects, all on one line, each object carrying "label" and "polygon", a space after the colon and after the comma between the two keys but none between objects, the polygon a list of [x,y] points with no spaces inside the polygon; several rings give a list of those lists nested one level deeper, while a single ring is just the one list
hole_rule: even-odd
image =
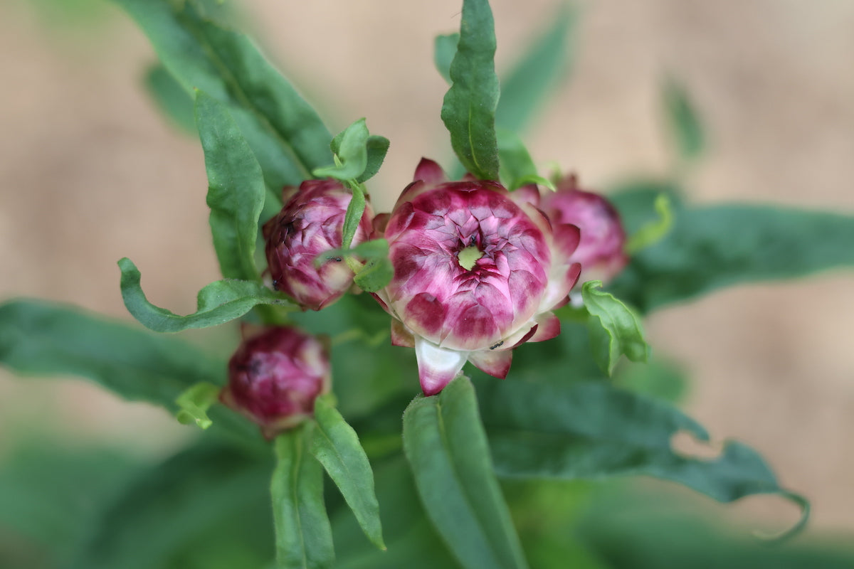
[{"label": "largest pink-and-white strawflower bloom with open green centre", "polygon": [[393,316],[392,342],[415,348],[426,395],[466,361],[504,378],[514,347],[560,332],[551,311],[580,271],[570,261],[578,229],[514,197],[496,182],[448,182],[424,159],[390,215],[377,216],[395,276],[375,296]]}]

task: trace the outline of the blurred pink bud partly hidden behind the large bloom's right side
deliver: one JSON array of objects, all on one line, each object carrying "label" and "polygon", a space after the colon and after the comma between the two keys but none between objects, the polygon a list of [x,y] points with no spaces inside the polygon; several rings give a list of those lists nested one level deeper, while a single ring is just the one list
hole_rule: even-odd
[{"label": "blurred pink bud partly hidden behind the large bloom's right side", "polygon": [[553,223],[581,229],[581,241],[572,254],[572,260],[582,265],[579,282],[609,282],[629,263],[620,214],[605,197],[578,189],[575,176],[565,177],[556,192],[544,191],[540,207]]}]

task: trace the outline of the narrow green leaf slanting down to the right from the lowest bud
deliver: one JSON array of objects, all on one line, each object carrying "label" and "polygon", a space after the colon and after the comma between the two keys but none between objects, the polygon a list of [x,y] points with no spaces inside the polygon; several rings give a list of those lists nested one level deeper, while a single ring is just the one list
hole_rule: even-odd
[{"label": "narrow green leaf slanting down to the right from the lowest bud", "polygon": [[312,438],[311,453],[338,486],[371,543],[379,549],[386,549],[371,463],[362,449],[359,436],[335,409],[333,400],[333,396],[328,394],[314,401],[314,419],[318,428]]}]

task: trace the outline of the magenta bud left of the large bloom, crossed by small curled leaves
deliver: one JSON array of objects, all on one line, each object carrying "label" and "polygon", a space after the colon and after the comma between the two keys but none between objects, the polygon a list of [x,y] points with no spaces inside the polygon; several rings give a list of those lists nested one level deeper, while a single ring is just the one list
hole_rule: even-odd
[{"label": "magenta bud left of the large bloom, crossed by small curled leaves", "polygon": [[[284,190],[284,207],[264,224],[267,265],[273,287],[303,309],[319,311],[353,284],[353,271],[340,257],[315,258],[342,246],[342,227],[353,195],[331,179],[307,180]],[[351,247],[371,235],[371,206],[365,207]]]}]

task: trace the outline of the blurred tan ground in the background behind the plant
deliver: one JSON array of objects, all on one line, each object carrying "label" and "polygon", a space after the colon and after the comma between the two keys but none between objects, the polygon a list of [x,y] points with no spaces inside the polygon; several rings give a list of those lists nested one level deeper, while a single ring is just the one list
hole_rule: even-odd
[{"label": "blurred tan ground in the background behind the plant", "polygon": [[[447,155],[438,119],[445,85],[431,51],[436,33],[459,26],[459,0],[246,4],[272,58],[331,131],[365,116],[391,139],[371,183],[379,206],[423,154]],[[493,0],[500,68],[556,7]],[[695,200],[854,213],[854,3],[589,0],[580,15],[570,81],[527,136],[535,160],[575,169],[589,187],[664,175],[658,88],[670,72],[687,84],[711,138],[688,180]],[[196,291],[218,278],[202,152],[143,92],[152,61],[142,33],[97,0],[0,3],[0,299],[57,299],[128,319],[115,265],[123,256],[142,270],[149,299],[177,312],[192,311]],[[713,436],[760,450],[784,485],[813,500],[816,528],[849,531],[852,293],[854,271],[840,270],[715,293],[648,323],[655,349],[693,375],[688,411]],[[0,370],[0,453],[33,431],[144,454],[189,433],[83,382]],[[794,519],[773,498],[751,502],[736,514]]]}]

